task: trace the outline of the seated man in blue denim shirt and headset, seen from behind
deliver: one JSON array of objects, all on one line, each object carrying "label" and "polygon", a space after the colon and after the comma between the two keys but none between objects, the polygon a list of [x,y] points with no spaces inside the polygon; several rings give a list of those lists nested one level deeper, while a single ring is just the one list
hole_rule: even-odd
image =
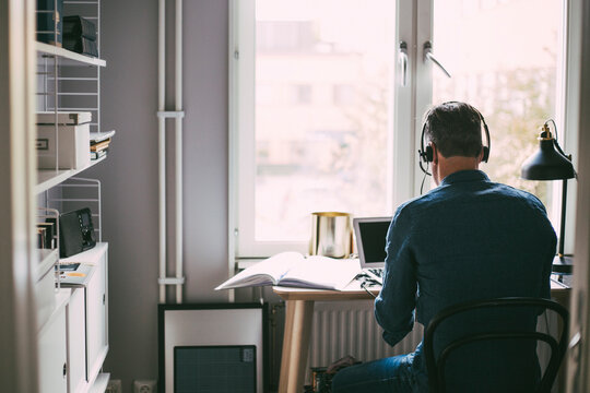
[{"label": "seated man in blue denim shirt and headset, seen from behind", "polygon": [[[423,138],[432,148],[426,160],[432,160],[438,187],[402,204],[389,227],[375,315],[391,346],[413,329],[414,319],[427,326],[437,312],[453,303],[550,297],[555,231],[534,195],[492,182],[479,170],[486,148],[482,123],[481,114],[463,103],[445,103],[425,115]],[[531,314],[534,318],[524,323],[534,329],[536,314]],[[506,323],[505,315],[496,320]],[[462,364],[451,372],[449,383],[467,382],[468,392],[477,393],[524,391],[540,372],[534,345],[530,353],[533,358],[498,355],[489,369],[481,370],[472,368],[480,355],[472,350],[459,360]],[[345,368],[334,377],[332,389],[337,393],[428,392],[422,344],[413,354]]]}]

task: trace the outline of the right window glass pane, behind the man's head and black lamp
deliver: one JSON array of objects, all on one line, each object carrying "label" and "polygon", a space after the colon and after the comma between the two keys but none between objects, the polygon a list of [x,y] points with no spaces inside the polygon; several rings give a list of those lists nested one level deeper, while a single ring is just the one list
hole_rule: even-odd
[{"label": "right window glass pane, behind the man's head and black lamp", "polygon": [[479,108],[492,139],[482,169],[533,192],[547,209],[552,182],[520,179],[520,166],[557,112],[562,9],[563,0],[438,0],[434,8],[434,53],[452,78],[433,69],[433,103]]}]

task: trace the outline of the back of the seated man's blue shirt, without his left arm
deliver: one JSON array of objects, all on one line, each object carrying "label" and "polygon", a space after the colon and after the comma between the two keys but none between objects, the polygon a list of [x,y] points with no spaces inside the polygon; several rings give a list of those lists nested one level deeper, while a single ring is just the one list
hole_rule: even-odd
[{"label": "back of the seated man's blue shirt, without his left arm", "polygon": [[424,324],[458,301],[550,296],[555,233],[543,205],[484,176],[450,175],[412,206],[417,320]]}]

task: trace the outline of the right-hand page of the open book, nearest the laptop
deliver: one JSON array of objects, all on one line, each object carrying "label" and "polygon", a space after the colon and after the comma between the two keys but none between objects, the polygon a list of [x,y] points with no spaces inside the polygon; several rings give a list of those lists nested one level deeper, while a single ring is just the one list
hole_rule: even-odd
[{"label": "right-hand page of the open book, nearest the laptop", "polygon": [[293,266],[279,283],[319,289],[343,289],[361,273],[358,260],[312,255]]}]

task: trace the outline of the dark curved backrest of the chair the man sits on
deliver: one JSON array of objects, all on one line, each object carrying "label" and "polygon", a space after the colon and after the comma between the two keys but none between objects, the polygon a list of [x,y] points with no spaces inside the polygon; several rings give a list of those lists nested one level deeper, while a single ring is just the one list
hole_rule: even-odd
[{"label": "dark curved backrest of the chair the man sits on", "polygon": [[[544,311],[552,310],[562,319],[560,335],[558,340],[555,340],[555,337],[553,337],[551,334],[536,332],[534,326],[531,329],[530,323],[523,323],[521,325],[519,325],[519,323],[512,323],[506,329],[495,329],[493,326],[494,324],[499,325],[502,323],[492,323],[489,326],[487,326],[486,322],[484,321],[482,323],[483,327],[480,325],[474,332],[470,332],[469,325],[462,326],[461,330],[464,332],[461,332],[458,334],[458,336],[452,337],[449,342],[437,343],[435,345],[435,342],[437,341],[437,333],[440,334],[440,325],[450,321],[452,318],[465,315],[465,313],[469,312],[480,312],[480,315],[482,315],[486,312],[497,312],[498,310],[510,310],[512,315],[515,312],[522,311],[523,313],[528,313],[528,315],[534,315],[534,322],[536,321],[536,315],[543,313]],[[499,321],[497,319],[498,315],[499,313],[496,314],[496,321]],[[534,323],[534,325],[536,324]],[[539,383],[532,392],[548,393],[565,355],[568,327],[569,312],[567,309],[556,301],[541,298],[512,297],[476,300],[446,308],[430,320],[424,335],[424,356],[428,371],[429,391],[430,393],[446,392],[447,360],[449,359],[449,356],[452,353],[457,353],[457,349],[459,348],[465,348],[465,346],[473,343],[484,343],[491,341],[496,343],[508,341],[518,341],[519,343],[523,341],[532,341],[534,343],[534,348],[536,343],[541,341],[548,344],[551,348],[551,357]],[[485,354],[481,354],[481,356],[485,357]]]}]

